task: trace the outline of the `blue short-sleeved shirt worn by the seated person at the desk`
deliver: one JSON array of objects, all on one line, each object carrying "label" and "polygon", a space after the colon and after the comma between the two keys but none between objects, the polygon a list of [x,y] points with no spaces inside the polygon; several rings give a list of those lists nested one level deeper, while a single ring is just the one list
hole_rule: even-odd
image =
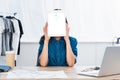
[{"label": "blue short-sleeved shirt worn by the seated person at the desk", "polygon": [[[77,57],[77,40],[69,37],[74,55]],[[39,56],[41,55],[44,42],[40,42],[38,51],[37,66],[40,66]],[[60,40],[51,38],[48,44],[48,64],[47,66],[68,66],[66,61],[66,43],[63,37]]]}]

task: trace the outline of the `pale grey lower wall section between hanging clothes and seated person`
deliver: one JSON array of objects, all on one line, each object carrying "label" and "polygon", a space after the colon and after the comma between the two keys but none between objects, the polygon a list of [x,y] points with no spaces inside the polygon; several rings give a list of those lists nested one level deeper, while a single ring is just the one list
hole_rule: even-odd
[{"label": "pale grey lower wall section between hanging clothes and seated person", "polygon": [[38,48],[38,43],[21,43],[21,51],[17,58],[17,66],[35,66]]}]

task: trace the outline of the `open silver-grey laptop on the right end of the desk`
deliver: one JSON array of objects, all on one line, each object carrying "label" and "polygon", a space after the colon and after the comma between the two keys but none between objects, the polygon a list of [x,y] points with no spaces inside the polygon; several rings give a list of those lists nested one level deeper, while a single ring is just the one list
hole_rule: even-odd
[{"label": "open silver-grey laptop on the right end of the desk", "polygon": [[78,74],[94,77],[120,74],[120,46],[106,47],[100,67],[89,67]]}]

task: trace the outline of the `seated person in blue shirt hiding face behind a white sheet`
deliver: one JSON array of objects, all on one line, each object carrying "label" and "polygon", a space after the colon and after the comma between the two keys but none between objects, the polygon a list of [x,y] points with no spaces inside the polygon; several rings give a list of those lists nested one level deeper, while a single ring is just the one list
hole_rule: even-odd
[{"label": "seated person in blue shirt hiding face behind a white sheet", "polygon": [[44,36],[40,40],[37,66],[73,66],[77,57],[77,40],[69,37],[66,20],[66,36],[49,37],[48,23],[43,28]]}]

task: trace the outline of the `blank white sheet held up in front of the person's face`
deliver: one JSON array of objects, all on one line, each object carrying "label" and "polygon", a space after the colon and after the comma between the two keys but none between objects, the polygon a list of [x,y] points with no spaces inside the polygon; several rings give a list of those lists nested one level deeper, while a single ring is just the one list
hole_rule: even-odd
[{"label": "blank white sheet held up in front of the person's face", "polygon": [[66,35],[65,16],[62,12],[51,12],[48,14],[48,36]]}]

